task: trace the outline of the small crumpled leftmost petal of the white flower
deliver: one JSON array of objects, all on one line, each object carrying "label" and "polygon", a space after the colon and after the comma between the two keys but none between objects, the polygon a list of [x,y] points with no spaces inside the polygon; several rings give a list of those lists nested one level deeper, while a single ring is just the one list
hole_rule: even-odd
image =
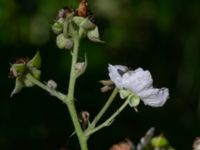
[{"label": "small crumpled leftmost petal of the white flower", "polygon": [[126,66],[121,66],[121,65],[110,65],[108,66],[109,70],[109,77],[110,79],[115,83],[115,85],[118,88],[123,88],[122,87],[122,75],[119,73],[119,71],[126,72],[128,68]]}]

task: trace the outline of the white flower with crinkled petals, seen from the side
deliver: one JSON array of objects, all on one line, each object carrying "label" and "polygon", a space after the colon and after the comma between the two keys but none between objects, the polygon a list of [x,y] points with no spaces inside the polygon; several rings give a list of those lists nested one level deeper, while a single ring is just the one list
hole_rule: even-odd
[{"label": "white flower with crinkled petals, seen from the side", "polygon": [[169,98],[168,88],[153,88],[153,79],[148,70],[138,68],[133,71],[121,65],[109,65],[108,70],[117,88],[132,91],[145,105],[161,107]]}]

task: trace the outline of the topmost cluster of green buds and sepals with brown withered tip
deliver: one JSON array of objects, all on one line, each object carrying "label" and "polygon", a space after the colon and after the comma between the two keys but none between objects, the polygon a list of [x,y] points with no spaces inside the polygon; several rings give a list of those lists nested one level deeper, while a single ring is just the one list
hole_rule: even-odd
[{"label": "topmost cluster of green buds and sepals with brown withered tip", "polygon": [[56,43],[60,49],[71,49],[75,36],[80,38],[87,36],[93,42],[102,42],[86,0],[82,0],[77,9],[68,7],[60,9],[52,30],[57,34]]}]

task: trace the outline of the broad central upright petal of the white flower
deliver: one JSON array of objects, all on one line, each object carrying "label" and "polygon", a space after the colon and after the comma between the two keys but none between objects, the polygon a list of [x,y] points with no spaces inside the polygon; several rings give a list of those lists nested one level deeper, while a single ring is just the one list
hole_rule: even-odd
[{"label": "broad central upright petal of the white flower", "polygon": [[128,71],[123,75],[122,85],[124,88],[139,93],[152,86],[153,79],[149,71],[138,68],[135,71]]}]

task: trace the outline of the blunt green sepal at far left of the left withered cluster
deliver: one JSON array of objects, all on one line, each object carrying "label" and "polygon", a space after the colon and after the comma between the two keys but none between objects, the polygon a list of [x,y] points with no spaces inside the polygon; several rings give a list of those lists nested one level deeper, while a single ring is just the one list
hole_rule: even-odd
[{"label": "blunt green sepal at far left of the left withered cluster", "polygon": [[25,70],[26,70],[26,65],[25,64],[12,64],[11,70],[13,72],[13,75],[15,77],[22,75]]}]

